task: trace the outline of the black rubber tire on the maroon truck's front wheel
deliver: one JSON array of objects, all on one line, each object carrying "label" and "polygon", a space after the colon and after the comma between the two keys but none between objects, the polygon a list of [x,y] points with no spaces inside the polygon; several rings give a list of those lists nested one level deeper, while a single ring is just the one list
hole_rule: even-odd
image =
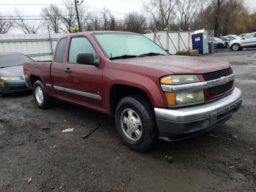
[{"label": "black rubber tire on the maroon truck's front wheel", "polygon": [[[141,137],[134,141],[126,136],[125,129],[128,130],[128,124],[122,123],[125,110],[133,110],[134,116],[138,114],[141,120]],[[128,120],[129,116],[127,117]],[[122,119],[122,120],[121,120]],[[152,104],[141,96],[128,96],[122,98],[116,107],[115,114],[116,129],[121,140],[128,147],[136,151],[146,151],[151,149],[158,142],[158,129]],[[123,125],[123,126],[122,126]],[[123,129],[124,128],[124,129]],[[135,135],[135,133],[133,133]]]}]

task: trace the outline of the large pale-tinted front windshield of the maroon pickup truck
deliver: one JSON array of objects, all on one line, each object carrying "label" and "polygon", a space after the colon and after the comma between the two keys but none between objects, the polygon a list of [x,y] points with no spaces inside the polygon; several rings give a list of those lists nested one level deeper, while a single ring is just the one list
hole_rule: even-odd
[{"label": "large pale-tinted front windshield of the maroon pickup truck", "polygon": [[[93,34],[108,58],[123,55],[146,55],[148,53],[168,54],[150,39],[139,34],[112,33]],[[154,54],[154,55],[158,55]]]}]

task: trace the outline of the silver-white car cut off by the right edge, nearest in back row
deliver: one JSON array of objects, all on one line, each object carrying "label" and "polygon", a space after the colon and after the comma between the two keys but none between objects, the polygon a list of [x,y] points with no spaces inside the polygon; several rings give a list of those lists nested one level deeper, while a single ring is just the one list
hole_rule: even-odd
[{"label": "silver-white car cut off by the right edge, nearest in back row", "polygon": [[233,51],[254,47],[256,47],[256,32],[250,33],[240,39],[235,39],[228,42],[228,48],[232,49]]}]

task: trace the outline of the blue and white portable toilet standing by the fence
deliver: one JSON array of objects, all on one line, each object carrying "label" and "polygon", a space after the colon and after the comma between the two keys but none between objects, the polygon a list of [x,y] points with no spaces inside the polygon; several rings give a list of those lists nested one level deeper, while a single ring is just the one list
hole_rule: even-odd
[{"label": "blue and white portable toilet standing by the fence", "polygon": [[206,30],[198,30],[192,33],[192,46],[197,49],[199,54],[208,54],[208,32]]}]

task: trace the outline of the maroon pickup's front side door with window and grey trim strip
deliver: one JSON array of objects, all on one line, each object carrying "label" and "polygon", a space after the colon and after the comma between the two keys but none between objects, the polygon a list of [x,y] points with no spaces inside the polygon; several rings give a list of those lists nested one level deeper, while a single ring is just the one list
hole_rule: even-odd
[{"label": "maroon pickup's front side door with window and grey trim strip", "polygon": [[98,66],[78,64],[76,55],[78,52],[92,52],[94,58],[96,51],[85,36],[74,36],[70,40],[66,69],[69,70],[65,79],[66,97],[68,100],[105,110],[103,102],[103,64]]}]

